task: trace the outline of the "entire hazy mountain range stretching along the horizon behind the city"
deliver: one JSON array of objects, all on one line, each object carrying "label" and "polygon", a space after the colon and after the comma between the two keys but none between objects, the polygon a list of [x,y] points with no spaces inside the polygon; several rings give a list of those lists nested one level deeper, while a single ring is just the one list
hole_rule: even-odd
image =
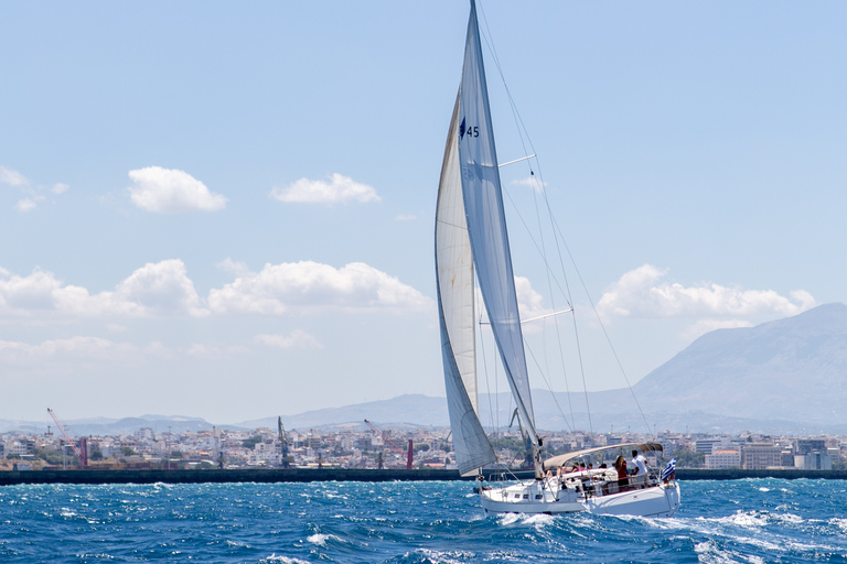
[{"label": "entire hazy mountain range stretching along the horizon behind the city", "polygon": [[[847,305],[825,304],[755,327],[717,329],[696,339],[653,370],[632,390],[583,393],[533,392],[542,430],[752,431],[778,434],[847,434]],[[643,414],[636,409],[637,398]],[[590,405],[585,410],[586,401]],[[572,414],[567,405],[579,406]],[[514,404],[508,393],[480,395],[486,426],[506,426]],[[420,394],[282,416],[287,429],[364,426],[447,426],[444,398]],[[67,422],[74,433],[118,434],[141,426],[156,432],[200,431],[197,417],[143,415]],[[277,417],[244,421],[222,429],[276,427]],[[43,432],[44,423],[0,420],[0,431]],[[651,429],[651,426],[653,429]]]}]

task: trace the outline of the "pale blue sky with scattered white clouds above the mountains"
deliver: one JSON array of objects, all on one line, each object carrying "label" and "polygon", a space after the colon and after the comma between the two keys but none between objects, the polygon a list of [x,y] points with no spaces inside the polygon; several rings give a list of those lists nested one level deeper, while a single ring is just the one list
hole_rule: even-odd
[{"label": "pale blue sky with scattered white clouds above the mountains", "polygon": [[[708,330],[847,301],[847,6],[479,7],[500,160],[538,155],[501,171],[524,317],[566,306],[538,202],[572,256],[555,319],[582,366],[527,324],[534,388],[621,388]],[[433,214],[468,12],[0,4],[0,419],[443,395]]]}]

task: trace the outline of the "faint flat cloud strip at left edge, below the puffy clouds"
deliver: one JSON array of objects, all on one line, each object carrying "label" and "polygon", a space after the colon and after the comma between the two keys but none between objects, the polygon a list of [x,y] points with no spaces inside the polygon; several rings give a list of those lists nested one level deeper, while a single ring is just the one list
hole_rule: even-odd
[{"label": "faint flat cloud strip at left edge, below the puffy clouds", "polygon": [[63,361],[137,364],[144,351],[129,343],[115,343],[99,337],[71,337],[29,345],[0,340],[0,362],[43,365]]}]

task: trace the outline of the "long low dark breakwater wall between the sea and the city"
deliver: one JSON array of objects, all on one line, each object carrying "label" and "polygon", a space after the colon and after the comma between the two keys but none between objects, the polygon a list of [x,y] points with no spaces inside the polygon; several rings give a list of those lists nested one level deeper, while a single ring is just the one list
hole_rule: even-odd
[{"label": "long low dark breakwater wall between the sea and the city", "polygon": [[[532,473],[518,473],[529,478]],[[847,470],[676,470],[678,480],[738,480],[743,478],[846,480]],[[457,470],[362,469],[362,468],[268,468],[206,470],[21,470],[0,471],[0,486],[17,484],[214,484],[214,482],[304,482],[304,481],[451,481],[462,478]]]}]

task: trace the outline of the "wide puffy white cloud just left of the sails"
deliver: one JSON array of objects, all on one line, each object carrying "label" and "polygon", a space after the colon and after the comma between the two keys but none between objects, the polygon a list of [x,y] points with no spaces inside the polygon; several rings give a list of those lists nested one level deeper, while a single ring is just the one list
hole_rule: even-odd
[{"label": "wide puffy white cloud just left of the sails", "polygon": [[432,301],[398,279],[362,262],[340,269],[312,261],[266,264],[208,293],[214,313],[280,315],[315,310],[421,311]]}]

